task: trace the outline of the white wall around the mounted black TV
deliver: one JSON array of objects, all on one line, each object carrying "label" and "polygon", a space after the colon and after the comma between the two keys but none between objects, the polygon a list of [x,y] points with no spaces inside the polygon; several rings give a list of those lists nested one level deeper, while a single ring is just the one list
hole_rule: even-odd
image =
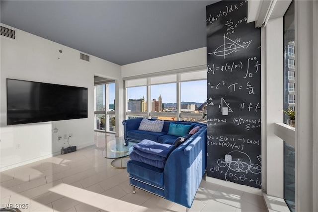
[{"label": "white wall around the mounted black TV", "polygon": [[[78,50],[17,29],[16,37],[11,40],[1,36],[0,40],[1,170],[59,154],[62,146],[68,146],[64,140],[58,141],[58,136],[64,134],[73,134],[71,145],[93,144],[93,76],[121,81],[120,66],[116,64],[93,56],[90,62],[82,61]],[[87,87],[88,118],[7,126],[6,78]],[[58,128],[58,133],[52,133],[53,128]],[[16,149],[17,143],[20,143],[19,149]]]}]

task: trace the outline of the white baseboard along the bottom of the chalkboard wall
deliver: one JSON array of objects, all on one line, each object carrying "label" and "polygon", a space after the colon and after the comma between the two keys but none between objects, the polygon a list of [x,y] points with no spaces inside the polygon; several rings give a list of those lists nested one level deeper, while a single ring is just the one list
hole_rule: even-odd
[{"label": "white baseboard along the bottom of the chalkboard wall", "polygon": [[206,177],[206,181],[210,182],[210,183],[215,183],[221,186],[225,186],[225,187],[230,187],[233,189],[237,189],[243,192],[247,192],[247,193],[251,193],[251,194],[255,194],[255,195],[259,195],[262,196],[262,190],[261,189],[257,189],[257,188],[253,188],[250,186],[245,186],[245,185],[240,185],[237,183],[233,183],[233,182],[228,182],[225,180],[220,180],[217,178],[213,178],[213,177]]}]

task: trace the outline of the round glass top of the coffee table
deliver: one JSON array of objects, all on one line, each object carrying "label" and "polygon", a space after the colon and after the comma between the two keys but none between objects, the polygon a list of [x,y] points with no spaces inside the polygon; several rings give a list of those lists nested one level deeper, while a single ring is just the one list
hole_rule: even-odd
[{"label": "round glass top of the coffee table", "polygon": [[126,157],[133,151],[135,144],[135,142],[129,142],[129,145],[125,146],[123,139],[116,138],[116,140],[107,142],[103,156],[112,159]]}]

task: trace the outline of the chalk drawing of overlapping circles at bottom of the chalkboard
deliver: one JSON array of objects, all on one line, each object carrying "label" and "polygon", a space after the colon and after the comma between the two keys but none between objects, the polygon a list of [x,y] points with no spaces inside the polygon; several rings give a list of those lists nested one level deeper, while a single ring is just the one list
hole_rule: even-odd
[{"label": "chalk drawing of overlapping circles at bottom of the chalkboard", "polygon": [[[257,160],[259,164],[252,163],[252,160],[248,154],[243,151],[233,150],[228,153],[232,156],[232,159],[225,160],[224,158],[219,158],[217,161],[217,166],[214,165],[210,167],[211,172],[218,172],[219,174],[224,174],[226,181],[234,182],[249,182],[249,184],[254,183],[255,185],[261,186],[260,176],[257,174],[262,172],[261,168],[261,155],[257,155]],[[252,177],[249,177],[249,176]]]}]

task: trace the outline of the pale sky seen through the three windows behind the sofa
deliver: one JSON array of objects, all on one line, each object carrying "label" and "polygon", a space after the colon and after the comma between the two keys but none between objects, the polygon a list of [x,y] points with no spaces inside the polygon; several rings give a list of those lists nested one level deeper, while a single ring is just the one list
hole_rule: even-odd
[{"label": "pale sky seen through the three windows behind the sofa", "polygon": [[[128,99],[147,97],[146,86],[128,88]],[[176,83],[151,86],[151,98],[158,100],[159,94],[162,103],[176,103]],[[206,80],[181,82],[181,102],[204,103],[207,99]]]}]

